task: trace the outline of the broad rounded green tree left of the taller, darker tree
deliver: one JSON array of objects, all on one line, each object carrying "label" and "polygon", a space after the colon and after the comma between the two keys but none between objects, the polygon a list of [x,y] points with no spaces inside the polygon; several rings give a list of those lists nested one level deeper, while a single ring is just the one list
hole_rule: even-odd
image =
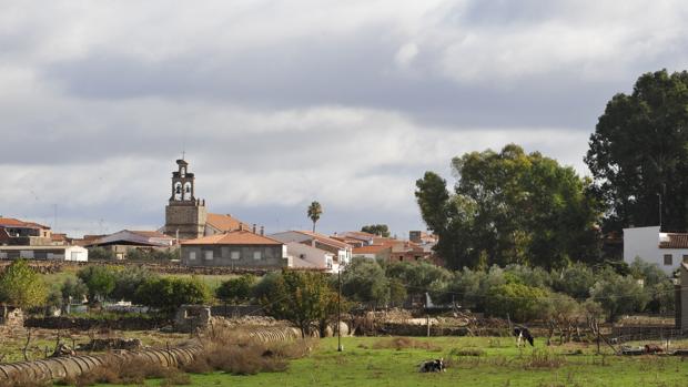
[{"label": "broad rounded green tree left of the taller, darker tree", "polygon": [[571,167],[514,144],[464,154],[452,165],[453,194],[433,172],[416,182],[421,214],[449,267],[598,258],[599,206],[591,182]]}]

